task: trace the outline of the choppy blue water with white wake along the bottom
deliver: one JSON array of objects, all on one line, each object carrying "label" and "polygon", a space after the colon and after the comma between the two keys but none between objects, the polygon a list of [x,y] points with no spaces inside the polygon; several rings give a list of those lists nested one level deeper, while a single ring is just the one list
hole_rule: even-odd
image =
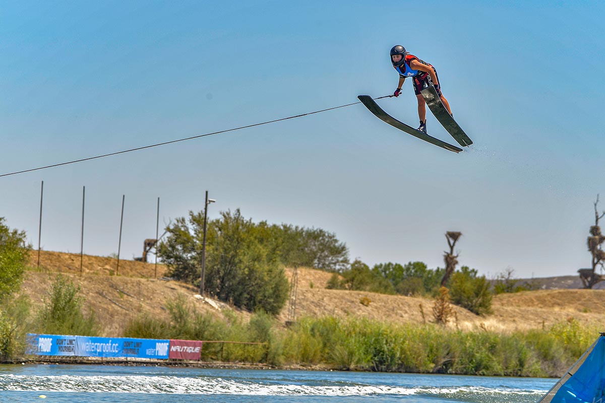
[{"label": "choppy blue water with white wake along the bottom", "polygon": [[402,373],[15,365],[0,366],[0,402],[532,403],[554,383]]}]

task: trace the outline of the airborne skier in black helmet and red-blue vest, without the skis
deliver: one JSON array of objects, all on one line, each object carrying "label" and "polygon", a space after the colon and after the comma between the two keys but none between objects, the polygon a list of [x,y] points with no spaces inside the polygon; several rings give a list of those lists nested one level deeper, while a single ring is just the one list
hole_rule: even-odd
[{"label": "airborne skier in black helmet and red-blue vest, without the skis", "polygon": [[418,59],[413,54],[407,53],[405,48],[401,45],[395,45],[391,48],[391,63],[393,68],[399,73],[399,85],[393,92],[395,97],[399,97],[401,94],[401,86],[404,85],[405,79],[410,77],[413,80],[414,94],[418,100],[418,117],[420,118],[420,126],[418,130],[421,132],[427,132],[427,108],[426,102],[420,91],[427,86],[433,85],[437,91],[437,95],[441,99],[443,106],[452,114],[450,109],[450,103],[445,99],[441,93],[441,85],[439,83],[439,77],[437,77],[437,70],[430,65],[430,63],[424,62]]}]

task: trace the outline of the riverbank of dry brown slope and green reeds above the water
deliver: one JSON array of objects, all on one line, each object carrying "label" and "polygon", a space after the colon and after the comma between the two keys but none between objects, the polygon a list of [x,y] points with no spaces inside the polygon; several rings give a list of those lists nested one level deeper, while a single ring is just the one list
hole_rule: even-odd
[{"label": "riverbank of dry brown slope and green reeds above the water", "polygon": [[[251,314],[221,301],[200,298],[197,289],[184,283],[146,277],[154,265],[145,266],[138,274],[142,277],[137,277],[136,270],[128,276],[107,274],[108,267],[117,262],[102,257],[98,263],[105,268],[95,269],[97,260],[89,256],[85,259],[87,268],[80,274],[74,272],[71,254],[43,253],[41,257],[42,262],[52,258],[56,266],[54,270],[42,265],[40,270],[27,271],[21,296],[29,301],[32,312],[44,306],[47,290],[61,274],[79,288],[83,306],[97,321],[90,334],[239,343],[204,343],[200,362],[171,363],[178,366],[229,363],[283,369],[558,376],[594,341],[598,330],[603,330],[602,290],[496,295],[493,314],[479,317],[454,307],[450,321],[443,325],[434,323],[434,301],[430,298],[325,289],[332,274],[299,268],[296,317],[292,321],[288,306],[277,317]],[[67,263],[62,265],[61,259]],[[28,330],[35,326],[21,321],[22,331],[35,331]],[[45,331],[53,332],[78,334]],[[43,359],[59,362],[39,357],[31,362]],[[73,359],[60,362],[94,363],[88,358]],[[147,365],[131,360],[111,363]],[[160,361],[150,365],[167,364]]]}]

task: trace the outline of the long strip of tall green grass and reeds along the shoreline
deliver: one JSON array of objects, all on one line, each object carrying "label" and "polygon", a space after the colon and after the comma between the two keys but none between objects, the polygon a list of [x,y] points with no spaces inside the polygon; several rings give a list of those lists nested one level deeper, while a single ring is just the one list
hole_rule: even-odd
[{"label": "long strip of tall green grass and reeds along the shoreline", "polygon": [[393,324],[366,318],[301,318],[282,327],[264,313],[244,323],[196,312],[186,300],[167,304],[169,320],[140,317],[126,336],[266,343],[206,343],[202,359],[325,365],[342,370],[558,376],[598,337],[597,329],[566,320],[549,329],[500,334],[436,324]]}]

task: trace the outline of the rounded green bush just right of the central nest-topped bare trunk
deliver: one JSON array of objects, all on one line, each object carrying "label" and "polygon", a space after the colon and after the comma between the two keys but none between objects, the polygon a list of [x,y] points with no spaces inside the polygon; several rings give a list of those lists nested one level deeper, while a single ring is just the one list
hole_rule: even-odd
[{"label": "rounded green bush just right of the central nest-topped bare trunk", "polygon": [[491,313],[492,294],[485,276],[477,276],[477,270],[462,266],[454,272],[450,282],[452,302],[477,315]]}]

